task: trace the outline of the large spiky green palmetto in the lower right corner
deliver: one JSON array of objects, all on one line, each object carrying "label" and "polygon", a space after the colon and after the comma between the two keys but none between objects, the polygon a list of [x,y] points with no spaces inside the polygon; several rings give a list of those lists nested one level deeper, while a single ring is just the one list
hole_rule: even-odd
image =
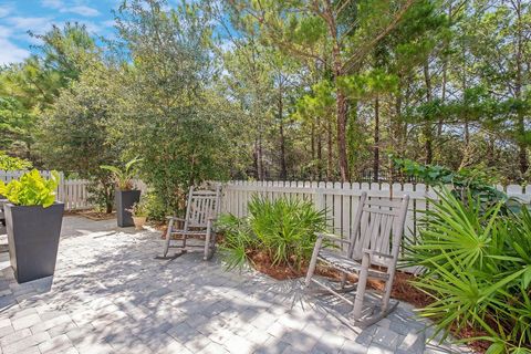
[{"label": "large spiky green palmetto in the lower right corner", "polygon": [[434,302],[421,314],[436,333],[471,325],[487,333],[490,353],[531,353],[531,215],[485,209],[448,190],[431,201],[409,261],[424,273],[414,282]]}]

